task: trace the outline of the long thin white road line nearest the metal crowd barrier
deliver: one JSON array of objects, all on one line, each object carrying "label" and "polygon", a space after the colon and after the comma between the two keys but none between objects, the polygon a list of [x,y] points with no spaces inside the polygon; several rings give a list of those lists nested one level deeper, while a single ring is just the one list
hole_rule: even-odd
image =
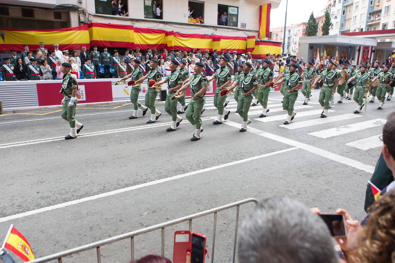
[{"label": "long thin white road line nearest the metal crowd barrier", "polygon": [[173,180],[176,180],[176,179],[181,179],[183,177],[188,177],[188,176],[196,175],[196,174],[199,174],[199,173],[205,173],[205,172],[213,171],[213,170],[216,170],[216,169],[228,167],[228,166],[235,165],[235,164],[241,164],[243,162],[248,162],[248,161],[260,159],[260,158],[263,158],[263,157],[276,155],[278,153],[285,153],[287,151],[292,151],[292,150],[295,150],[295,149],[297,149],[297,147],[292,147],[292,148],[288,148],[288,149],[284,149],[284,150],[280,150],[280,151],[275,151],[275,152],[272,152],[272,153],[266,153],[266,154],[263,154],[263,155],[258,155],[258,156],[254,156],[254,157],[250,157],[250,158],[246,158],[246,159],[242,159],[242,160],[237,160],[237,161],[234,161],[234,162],[228,162],[228,163],[225,163],[225,164],[220,164],[220,165],[216,165],[216,166],[209,167],[209,168],[204,168],[204,169],[193,171],[193,172],[183,173],[183,174],[180,174],[180,175],[175,175],[175,176],[167,177],[167,178],[164,178],[164,179],[151,181],[151,182],[148,182],[148,183],[142,183],[140,185],[134,185],[132,187],[126,187],[126,188],[122,188],[122,189],[118,189],[118,190],[114,190],[114,191],[110,191],[110,192],[105,192],[105,193],[102,193],[102,194],[97,194],[95,196],[88,196],[88,197],[85,197],[85,198],[81,198],[81,199],[77,199],[77,200],[73,200],[73,201],[68,201],[68,202],[65,202],[65,203],[57,204],[57,205],[51,205],[51,206],[48,206],[48,207],[43,207],[43,208],[40,208],[40,209],[35,209],[35,210],[27,211],[27,212],[24,212],[24,213],[16,214],[16,215],[2,217],[2,218],[0,218],[0,223],[6,222],[8,220],[22,218],[24,216],[35,215],[35,214],[38,214],[38,213],[42,213],[42,212],[45,212],[45,211],[50,211],[50,210],[57,209],[57,208],[67,207],[69,205],[75,205],[77,203],[82,203],[82,202],[86,202],[86,201],[92,201],[92,200],[96,200],[96,199],[99,199],[99,198],[112,196],[112,195],[115,195],[115,194],[120,194],[120,193],[123,193],[123,192],[135,190],[135,189],[148,187],[148,186],[151,186],[151,185],[157,185],[157,184],[160,184],[160,183],[165,183],[165,182],[173,181]]}]

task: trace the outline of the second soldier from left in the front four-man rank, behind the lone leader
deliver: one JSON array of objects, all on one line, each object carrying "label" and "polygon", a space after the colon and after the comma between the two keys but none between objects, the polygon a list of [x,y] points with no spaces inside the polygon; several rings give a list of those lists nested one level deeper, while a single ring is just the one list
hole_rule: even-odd
[{"label": "second soldier from left in the front four-man rank, behind the lone leader", "polygon": [[[148,83],[150,82],[150,80],[155,80],[156,83],[162,79],[159,71],[156,70],[157,68],[156,66],[158,65],[158,60],[156,59],[150,60],[149,65],[151,67],[151,70],[147,73],[147,75],[139,78],[136,81],[136,84],[139,84],[146,79]],[[162,115],[162,112],[160,112],[157,108],[155,108],[155,100],[158,93],[159,91],[156,91],[154,88],[148,87],[147,93],[145,94],[145,106],[148,107],[151,111],[151,118],[149,121],[147,121],[147,123],[154,123],[159,118],[159,116]]]}]

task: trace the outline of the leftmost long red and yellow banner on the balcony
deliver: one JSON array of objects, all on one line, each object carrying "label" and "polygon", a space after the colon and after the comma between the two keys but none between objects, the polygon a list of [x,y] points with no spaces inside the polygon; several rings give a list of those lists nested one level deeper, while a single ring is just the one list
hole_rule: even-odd
[{"label": "leftmost long red and yellow banner on the balcony", "polygon": [[59,44],[60,50],[75,50],[85,46],[89,48],[88,25],[71,28],[59,28],[48,30],[24,30],[0,28],[0,50],[23,50],[23,45],[29,45],[30,50],[39,48],[38,43],[44,42],[44,47],[53,49],[53,45]]}]

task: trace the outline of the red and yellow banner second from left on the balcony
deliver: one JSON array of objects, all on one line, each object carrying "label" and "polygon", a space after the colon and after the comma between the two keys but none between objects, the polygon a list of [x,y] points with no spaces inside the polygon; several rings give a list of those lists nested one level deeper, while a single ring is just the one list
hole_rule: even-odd
[{"label": "red and yellow banner second from left on the balcony", "polygon": [[88,31],[91,46],[134,48],[133,26],[89,23]]}]

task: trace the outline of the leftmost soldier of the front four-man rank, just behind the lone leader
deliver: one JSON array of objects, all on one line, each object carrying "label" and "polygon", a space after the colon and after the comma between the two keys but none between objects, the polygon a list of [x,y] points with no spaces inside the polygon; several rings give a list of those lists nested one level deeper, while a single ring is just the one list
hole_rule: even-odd
[{"label": "leftmost soldier of the front four-man rank, just behind the lone leader", "polygon": [[[121,80],[127,80],[128,78],[130,78],[130,80],[134,80],[135,83],[137,83],[137,80],[139,80],[140,78],[142,78],[143,75],[143,70],[141,69],[141,67],[139,67],[141,61],[139,59],[134,59],[133,61],[133,71],[132,73],[130,73],[127,76],[124,76]],[[143,116],[145,116],[145,114],[147,113],[148,108],[144,105],[142,105],[141,103],[139,103],[139,101],[137,101],[139,99],[139,93],[141,91],[141,85],[139,83],[132,85],[132,90],[130,91],[130,101],[133,103],[133,114],[132,116],[129,117],[129,119],[137,119],[137,110],[140,108],[143,111]]]}]

